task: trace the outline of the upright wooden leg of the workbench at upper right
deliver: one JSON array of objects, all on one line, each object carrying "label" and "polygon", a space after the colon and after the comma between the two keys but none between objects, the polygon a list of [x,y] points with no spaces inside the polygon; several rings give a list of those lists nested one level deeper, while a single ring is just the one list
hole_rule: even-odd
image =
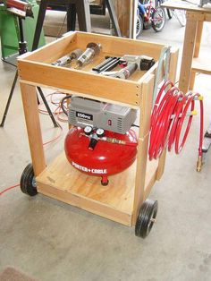
[{"label": "upright wooden leg of the workbench at upper right", "polygon": [[187,24],[183,43],[183,53],[181,57],[181,74],[179,88],[186,93],[190,85],[191,64],[194,54],[196,36],[198,30],[198,20],[187,13]]}]

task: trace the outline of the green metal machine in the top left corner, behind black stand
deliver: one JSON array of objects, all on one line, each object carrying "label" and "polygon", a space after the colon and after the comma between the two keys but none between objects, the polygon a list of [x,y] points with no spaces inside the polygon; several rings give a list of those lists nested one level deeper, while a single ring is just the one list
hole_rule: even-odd
[{"label": "green metal machine in the top left corner, behind black stand", "polygon": [[[26,17],[25,20],[22,20],[24,39],[27,42],[28,51],[31,51],[38,19],[39,6],[35,0],[28,0],[26,2],[32,5],[32,11],[34,14],[34,18]],[[16,15],[9,13],[4,4],[0,4],[0,37],[2,58],[4,60],[8,56],[18,54],[20,40],[18,18]],[[42,47],[45,44],[46,41],[42,31],[38,47]]]}]

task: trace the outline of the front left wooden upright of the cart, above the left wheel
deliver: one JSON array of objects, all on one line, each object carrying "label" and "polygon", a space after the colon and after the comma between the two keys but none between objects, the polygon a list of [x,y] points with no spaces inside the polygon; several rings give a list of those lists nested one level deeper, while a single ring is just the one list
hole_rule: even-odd
[{"label": "front left wooden upright of the cart, above the left wheel", "polygon": [[30,155],[34,174],[39,175],[46,167],[43,141],[38,116],[38,98],[35,86],[24,83],[21,85],[22,104],[26,120]]}]

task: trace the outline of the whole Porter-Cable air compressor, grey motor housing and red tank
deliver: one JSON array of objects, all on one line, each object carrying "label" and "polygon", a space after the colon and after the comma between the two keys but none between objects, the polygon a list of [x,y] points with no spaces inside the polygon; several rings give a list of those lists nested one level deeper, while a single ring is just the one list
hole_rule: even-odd
[{"label": "whole Porter-Cable air compressor, grey motor housing and red tank", "polygon": [[72,96],[66,158],[80,172],[99,176],[107,185],[109,175],[122,172],[136,159],[138,141],[131,129],[136,116],[137,111],[127,106]]}]

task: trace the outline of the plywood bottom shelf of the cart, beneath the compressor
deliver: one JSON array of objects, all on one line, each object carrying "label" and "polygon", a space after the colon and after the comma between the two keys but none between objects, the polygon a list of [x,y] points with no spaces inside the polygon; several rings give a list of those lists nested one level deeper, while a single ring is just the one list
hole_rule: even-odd
[{"label": "plywood bottom shelf of the cart, beneath the compressor", "polygon": [[[156,176],[157,166],[157,161],[148,162],[146,189],[153,175]],[[131,226],[135,171],[136,162],[122,173],[109,176],[109,184],[102,186],[100,177],[82,174],[62,153],[46,166],[36,181],[42,194]]]}]

